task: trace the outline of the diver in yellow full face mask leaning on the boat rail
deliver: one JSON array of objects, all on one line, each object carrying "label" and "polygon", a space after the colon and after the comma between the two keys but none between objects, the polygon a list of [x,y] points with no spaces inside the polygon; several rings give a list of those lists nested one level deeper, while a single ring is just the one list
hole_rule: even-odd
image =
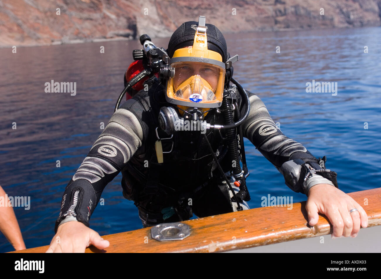
[{"label": "diver in yellow full face mask leaning on the boat rail", "polygon": [[[47,252],[109,246],[89,228],[89,220],[119,172],[123,196],[134,201],[144,227],[249,209],[243,137],[291,190],[307,195],[309,225],[321,213],[332,223],[333,237],[355,237],[360,225],[367,226],[362,207],[338,189],[326,157],[315,158],[283,135],[261,99],[232,77],[238,58],[230,56],[223,34],[205,17],[183,23],[166,50],[155,48],[147,36],[141,43],[149,57],[138,51],[134,58],[152,66],[141,74],[150,78],[138,92],[125,79],[114,114],[65,189],[54,228],[60,243],[54,236]],[[154,75],[151,69],[159,68]],[[127,89],[133,97],[120,105]],[[176,129],[197,121],[203,133]]]}]

